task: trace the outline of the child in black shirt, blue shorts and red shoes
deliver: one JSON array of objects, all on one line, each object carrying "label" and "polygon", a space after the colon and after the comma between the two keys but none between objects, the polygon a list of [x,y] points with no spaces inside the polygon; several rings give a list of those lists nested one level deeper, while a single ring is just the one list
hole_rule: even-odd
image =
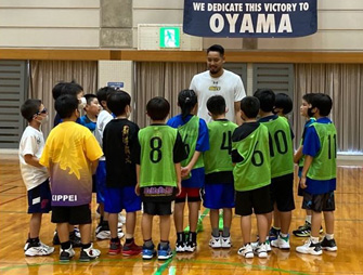
[{"label": "child in black shirt, blue shorts and red shoes", "polygon": [[111,231],[109,254],[121,251],[117,235],[118,213],[126,209],[126,243],[122,254],[141,253],[133,238],[137,224],[137,211],[141,210],[140,197],[135,195],[137,165],[140,155],[138,142],[139,127],[129,121],[131,97],[127,92],[113,93],[107,99],[107,107],[116,116],[103,132],[103,152],[106,157],[105,211],[109,213]]}]

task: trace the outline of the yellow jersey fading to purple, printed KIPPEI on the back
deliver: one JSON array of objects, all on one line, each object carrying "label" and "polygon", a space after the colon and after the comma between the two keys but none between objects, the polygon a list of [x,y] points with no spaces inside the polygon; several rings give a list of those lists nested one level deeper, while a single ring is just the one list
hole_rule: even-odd
[{"label": "yellow jersey fading to purple, printed KIPPEI on the back", "polygon": [[83,126],[65,121],[53,128],[39,162],[50,169],[52,206],[81,206],[92,199],[90,162],[103,155]]}]

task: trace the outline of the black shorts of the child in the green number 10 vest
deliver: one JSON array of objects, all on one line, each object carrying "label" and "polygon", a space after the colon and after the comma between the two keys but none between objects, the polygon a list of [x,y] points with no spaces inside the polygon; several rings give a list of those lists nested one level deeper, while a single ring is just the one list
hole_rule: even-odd
[{"label": "black shorts of the child in the green number 10 vest", "polygon": [[271,202],[276,202],[281,212],[295,209],[294,202],[294,173],[271,179]]}]

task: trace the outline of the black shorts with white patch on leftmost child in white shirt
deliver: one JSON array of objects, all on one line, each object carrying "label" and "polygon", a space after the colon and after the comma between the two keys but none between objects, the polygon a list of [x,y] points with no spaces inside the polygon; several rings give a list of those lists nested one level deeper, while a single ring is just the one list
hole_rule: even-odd
[{"label": "black shorts with white patch on leftmost child in white shirt", "polygon": [[52,194],[49,186],[49,180],[28,192],[28,213],[49,213],[52,201]]}]

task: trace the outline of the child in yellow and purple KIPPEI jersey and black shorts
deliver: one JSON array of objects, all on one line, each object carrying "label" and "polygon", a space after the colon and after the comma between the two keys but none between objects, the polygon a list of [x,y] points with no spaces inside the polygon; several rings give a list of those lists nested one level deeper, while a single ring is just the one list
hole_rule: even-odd
[{"label": "child in yellow and purple KIPPEI jersey and black shorts", "polygon": [[64,94],[55,101],[62,123],[50,132],[39,163],[51,176],[52,222],[61,241],[61,261],[75,256],[69,241],[68,225],[79,224],[81,233],[80,261],[100,256],[91,244],[92,173],[95,172],[102,149],[85,127],[76,123],[80,113],[78,100]]}]

